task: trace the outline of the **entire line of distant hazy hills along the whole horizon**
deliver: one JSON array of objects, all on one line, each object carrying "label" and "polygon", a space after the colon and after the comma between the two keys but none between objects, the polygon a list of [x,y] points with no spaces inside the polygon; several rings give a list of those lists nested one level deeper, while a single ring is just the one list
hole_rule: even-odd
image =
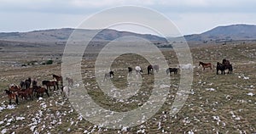
[{"label": "entire line of distant hazy hills along the whole horizon", "polygon": [[[69,36],[75,29],[62,28],[42,31],[29,31],[29,32],[7,32],[0,33],[0,41],[11,42],[67,42]],[[161,36],[154,36],[150,34],[139,34],[130,31],[116,31],[112,29],[105,30],[84,30],[76,29],[79,31],[79,37],[91,37],[93,33],[98,33],[94,36],[94,41],[113,41],[123,36],[137,36],[142,37],[151,42],[166,42],[166,39]],[[78,38],[79,38],[78,37]],[[256,25],[225,25],[213,28],[210,31],[201,34],[193,34],[183,36],[187,42],[227,42],[237,40],[256,40]],[[180,37],[172,37],[176,40]]]}]

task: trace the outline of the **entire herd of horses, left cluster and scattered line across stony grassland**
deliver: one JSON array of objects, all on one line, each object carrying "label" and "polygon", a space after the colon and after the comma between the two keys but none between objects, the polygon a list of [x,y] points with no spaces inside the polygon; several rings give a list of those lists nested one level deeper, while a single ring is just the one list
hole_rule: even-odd
[{"label": "entire herd of horses, left cluster and scattered line across stony grassland", "polygon": [[[202,66],[203,70],[206,68],[210,68],[212,70],[213,65],[211,63],[203,63],[199,62],[199,66]],[[179,65],[178,68],[167,68],[166,69],[166,75],[177,74],[178,70],[190,70],[193,68],[192,64],[183,64],[182,66]],[[132,68],[128,67],[128,75],[132,75]],[[158,64],[149,64],[147,67],[148,75],[154,74],[154,72],[158,73],[160,70],[160,67]],[[227,59],[223,59],[222,63],[217,62],[216,65],[216,74],[218,75],[219,70],[221,71],[221,74],[225,74],[225,70],[229,70],[228,74],[231,74],[233,71],[232,64],[230,64],[230,61]],[[143,70],[140,66],[135,67],[136,74],[143,74]],[[104,76],[104,81],[110,79],[113,77],[114,73],[113,70],[109,71]],[[65,92],[64,95],[68,96],[69,94],[69,87],[73,86],[73,79],[66,77],[67,86],[63,87],[63,81],[61,75],[52,75],[53,79],[52,81],[42,81],[42,86],[38,86],[38,81],[31,80],[31,78],[26,79],[25,81],[20,81],[20,86],[17,85],[11,85],[9,87],[9,90],[4,90],[6,94],[9,97],[9,104],[11,104],[11,100],[15,100],[15,103],[19,103],[18,98],[27,99],[30,98],[33,100],[33,97],[43,97],[44,93],[47,94],[49,97],[49,90],[51,90],[51,87],[54,88],[54,90],[57,88],[59,89],[59,85],[61,84],[61,91]]]}]

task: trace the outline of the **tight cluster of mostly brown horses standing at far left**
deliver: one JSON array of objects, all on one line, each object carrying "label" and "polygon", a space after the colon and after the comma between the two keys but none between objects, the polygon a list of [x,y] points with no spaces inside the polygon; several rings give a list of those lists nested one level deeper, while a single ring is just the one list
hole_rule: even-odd
[{"label": "tight cluster of mostly brown horses standing at far left", "polygon": [[61,85],[61,91],[65,92],[64,96],[67,96],[67,93],[69,93],[69,86],[73,85],[73,79],[66,77],[68,87],[63,87],[61,75],[52,75],[52,77],[54,80],[42,81],[42,86],[38,86],[38,81],[36,79],[32,80],[31,78],[28,78],[25,81],[20,81],[19,86],[15,84],[10,85],[9,90],[4,90],[4,92],[8,95],[9,104],[11,104],[12,100],[18,104],[18,98],[29,98],[33,100],[34,97],[43,97],[44,93],[49,97],[49,91],[51,91],[50,87],[53,87],[55,90],[56,88],[59,89],[59,85]]}]

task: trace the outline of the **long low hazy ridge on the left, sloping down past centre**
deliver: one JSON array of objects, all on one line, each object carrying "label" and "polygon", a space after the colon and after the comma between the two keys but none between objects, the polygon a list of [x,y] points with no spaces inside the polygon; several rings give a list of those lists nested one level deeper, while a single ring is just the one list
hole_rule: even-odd
[{"label": "long low hazy ridge on the left, sloping down past centre", "polygon": [[[29,32],[9,32],[0,33],[0,40],[4,41],[16,41],[16,42],[67,42],[69,36],[75,31],[71,28],[52,29],[43,31],[29,31]],[[111,29],[105,30],[84,30],[76,29],[79,33],[79,37],[91,37],[94,41],[113,41],[122,36],[137,36],[142,37],[151,42],[166,42],[166,39],[160,36],[154,36],[150,34],[138,34],[130,31],[116,31]],[[79,38],[78,37],[78,38]]]}]

